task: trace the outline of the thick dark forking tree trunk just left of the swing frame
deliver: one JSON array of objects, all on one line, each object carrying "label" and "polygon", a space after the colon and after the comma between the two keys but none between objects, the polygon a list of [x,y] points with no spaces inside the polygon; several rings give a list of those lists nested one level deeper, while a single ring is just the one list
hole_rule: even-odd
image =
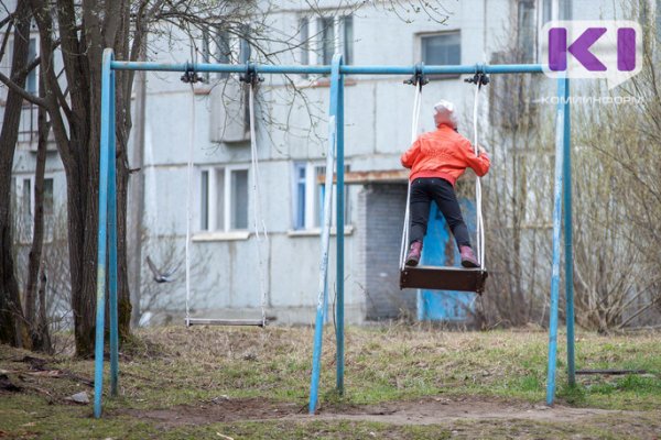
[{"label": "thick dark forking tree trunk just left of the swing frame", "polygon": [[98,62],[98,69],[100,69],[100,59],[88,61],[88,55],[97,51],[93,51],[85,32],[86,26],[96,26],[96,24],[84,22],[83,41],[79,41],[73,2],[57,1],[57,29],[71,102],[71,108],[63,114],[62,101],[57,98],[63,96],[63,91],[54,72],[52,52],[52,30],[55,28],[53,16],[50,8],[40,0],[32,0],[32,8],[40,30],[41,70],[44,73],[48,116],[66,175],[67,239],[76,354],[87,358],[94,353],[98,205],[95,200],[98,194],[98,147],[93,147],[90,151],[90,138],[96,134],[98,139],[98,131],[93,130],[98,125],[94,113],[97,100],[90,97],[90,85],[99,79],[90,77],[88,66]]}]

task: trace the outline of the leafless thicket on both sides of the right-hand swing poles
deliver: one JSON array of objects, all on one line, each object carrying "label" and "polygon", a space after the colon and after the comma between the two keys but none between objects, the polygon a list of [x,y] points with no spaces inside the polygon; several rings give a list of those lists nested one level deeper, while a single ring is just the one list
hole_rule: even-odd
[{"label": "leafless thicket on both sides of the right-hand swing poles", "polygon": [[[650,28],[644,41],[653,35]],[[575,316],[586,329],[659,321],[658,47],[646,44],[642,73],[614,91],[598,82],[572,89],[578,98],[572,102]],[[491,276],[479,310],[487,323],[545,322],[554,125],[552,107],[534,106],[534,86],[527,76],[498,77],[489,86],[496,160],[485,209]]]}]

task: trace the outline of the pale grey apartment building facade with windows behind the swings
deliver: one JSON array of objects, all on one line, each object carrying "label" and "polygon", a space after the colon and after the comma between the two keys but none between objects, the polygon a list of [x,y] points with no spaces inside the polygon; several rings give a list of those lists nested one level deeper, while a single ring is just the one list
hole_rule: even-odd
[{"label": "pale grey apartment building facade with windows behind the swings", "polygon": [[[402,9],[395,13],[379,2],[361,7],[317,3],[314,10],[304,1],[272,4],[269,25],[254,40],[248,37],[250,18],[246,19],[243,37],[214,32],[212,26],[188,38],[170,29],[171,37],[163,33],[151,36],[148,57],[162,63],[327,65],[334,53],[342,53],[345,63],[354,65],[457,65],[498,61],[505,48],[513,45],[517,59],[537,63],[539,33],[546,21],[613,14],[610,3],[604,1],[469,0],[443,4],[446,19],[440,22],[430,20],[425,12]],[[269,34],[272,38],[267,37]],[[34,56],[35,51],[36,45]],[[7,72],[9,66],[3,63]],[[259,202],[269,231],[269,241],[258,248],[252,232],[254,167],[247,89],[238,75],[202,76],[203,81],[195,85],[183,84],[180,75],[171,73],[149,73],[136,81],[130,157],[131,166],[140,172],[131,182],[130,226],[131,237],[138,239],[130,239],[130,243],[131,255],[139,255],[131,263],[132,286],[140,301],[137,320],[180,319],[186,305],[196,317],[260,316],[259,252],[267,315],[278,322],[308,323],[315,312],[319,276],[328,78],[266,75],[256,90]],[[346,228],[334,231],[334,237],[345,234],[346,318],[354,323],[415,314],[416,293],[399,289],[398,268],[407,200],[407,173],[399,157],[410,144],[414,92],[403,79],[346,77],[345,164],[349,185]],[[465,79],[430,78],[423,88],[420,131],[433,129],[431,109],[434,102],[446,99],[456,103],[462,116],[459,132],[472,136],[474,86]],[[29,79],[29,85],[33,82]],[[1,94],[4,96],[6,89]],[[483,117],[489,111],[486,100],[485,96]],[[14,194],[25,223],[34,199],[35,111],[26,105],[14,161]],[[63,206],[66,191],[62,163],[53,148],[46,168],[46,199],[55,212]],[[188,218],[192,270],[186,300]],[[333,245],[332,238],[332,250]],[[152,283],[148,256],[156,272],[172,272],[173,282]],[[332,251],[330,300],[335,292],[334,257]]]}]

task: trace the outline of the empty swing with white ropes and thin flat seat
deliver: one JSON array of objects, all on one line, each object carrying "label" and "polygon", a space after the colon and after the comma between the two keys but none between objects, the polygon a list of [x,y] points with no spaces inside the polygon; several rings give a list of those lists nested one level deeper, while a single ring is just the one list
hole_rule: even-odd
[{"label": "empty swing with white ropes and thin flat seat", "polygon": [[195,145],[195,94],[193,91],[193,84],[199,80],[196,73],[191,68],[187,69],[182,80],[191,84],[191,96],[192,96],[192,128],[191,128],[191,140],[188,147],[188,190],[186,197],[186,327],[191,326],[256,326],[266,327],[269,321],[267,319],[267,290],[264,286],[264,274],[261,258],[261,241],[266,241],[269,244],[269,234],[267,227],[261,215],[261,195],[259,188],[259,162],[257,156],[257,136],[254,131],[254,88],[258,81],[261,80],[257,75],[254,65],[248,63],[247,72],[240,77],[241,81],[245,81],[249,87],[248,94],[248,111],[250,118],[250,158],[252,167],[252,193],[253,193],[253,227],[256,235],[257,246],[257,258],[258,258],[258,272],[259,272],[259,288],[260,288],[260,308],[261,319],[218,319],[218,318],[191,318],[191,257],[189,257],[189,244],[191,244],[191,223],[193,220],[193,212],[191,207],[192,190],[193,190],[193,151]]}]

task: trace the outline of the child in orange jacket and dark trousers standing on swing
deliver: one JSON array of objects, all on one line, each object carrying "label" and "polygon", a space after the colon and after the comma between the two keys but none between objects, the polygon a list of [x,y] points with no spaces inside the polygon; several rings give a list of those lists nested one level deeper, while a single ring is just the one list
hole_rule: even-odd
[{"label": "child in orange jacket and dark trousers standing on swing", "polygon": [[436,130],[421,134],[401,156],[402,165],[411,168],[411,223],[407,265],[416,266],[420,262],[430,206],[434,200],[457,242],[462,266],[479,267],[454,184],[468,167],[479,177],[487,174],[489,156],[481,145],[478,145],[479,154],[476,155],[470,142],[456,131],[457,120],[452,102],[442,100],[434,106],[434,123]]}]

